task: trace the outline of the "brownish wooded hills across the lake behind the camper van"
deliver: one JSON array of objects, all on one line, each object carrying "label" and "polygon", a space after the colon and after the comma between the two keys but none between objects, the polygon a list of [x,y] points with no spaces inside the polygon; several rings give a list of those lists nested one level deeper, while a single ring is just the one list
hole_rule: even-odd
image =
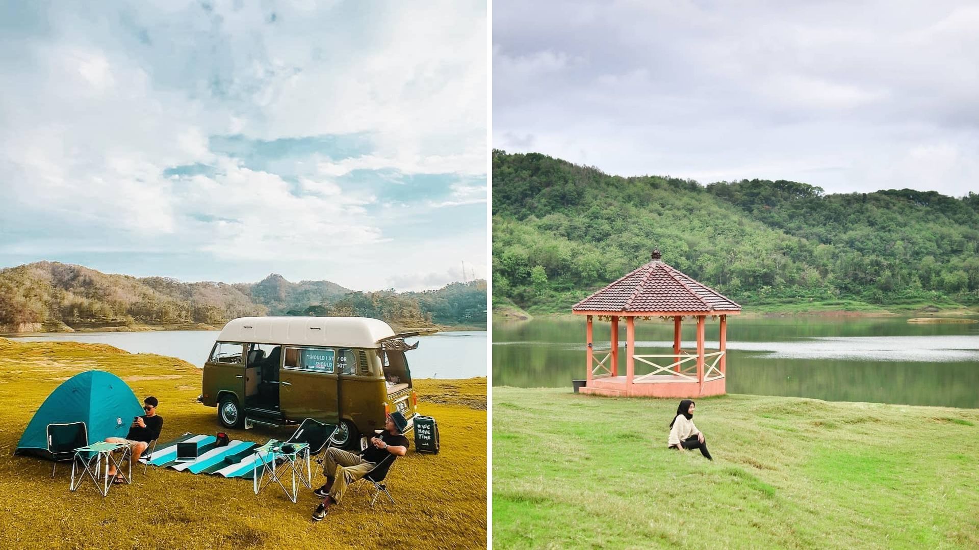
[{"label": "brownish wooded hills across the lake behind the camper van", "polygon": [[486,325],[486,281],[363,293],[329,281],[183,283],[39,261],[0,270],[0,332],[220,327],[250,315],[352,315],[401,327]]}]

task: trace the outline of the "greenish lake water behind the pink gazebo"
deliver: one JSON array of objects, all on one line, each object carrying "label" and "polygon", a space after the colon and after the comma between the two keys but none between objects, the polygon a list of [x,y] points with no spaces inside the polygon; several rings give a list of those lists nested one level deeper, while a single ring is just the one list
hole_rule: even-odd
[{"label": "greenish lake water behind the pink gazebo", "polygon": [[[610,323],[594,323],[595,350]],[[707,349],[718,347],[707,321]],[[670,353],[673,321],[636,321],[638,353]],[[684,320],[683,348],[696,347]],[[620,322],[619,372],[626,372]],[[493,323],[493,386],[570,388],[585,373],[584,318]],[[651,367],[636,362],[636,375]],[[917,324],[898,317],[729,316],[727,391],[832,401],[979,407],[979,324]]]}]

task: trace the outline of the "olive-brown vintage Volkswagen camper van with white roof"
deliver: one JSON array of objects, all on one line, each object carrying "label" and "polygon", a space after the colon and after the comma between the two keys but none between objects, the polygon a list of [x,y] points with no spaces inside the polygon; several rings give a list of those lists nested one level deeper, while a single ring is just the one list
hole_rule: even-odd
[{"label": "olive-brown vintage Volkswagen camper van with white roof", "polygon": [[204,365],[199,400],[226,428],[314,418],[355,446],[400,411],[413,426],[417,395],[404,338],[365,317],[242,317],[224,326]]}]

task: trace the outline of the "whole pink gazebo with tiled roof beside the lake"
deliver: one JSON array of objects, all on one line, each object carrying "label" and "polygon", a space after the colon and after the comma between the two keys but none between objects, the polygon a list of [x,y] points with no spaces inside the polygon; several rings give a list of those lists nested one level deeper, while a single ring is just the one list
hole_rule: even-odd
[{"label": "whole pink gazebo with tiled roof beside the lake", "polygon": [[[727,315],[737,315],[741,306],[663,263],[659,251],[653,252],[652,261],[584,298],[572,310],[587,316],[587,376],[580,392],[626,397],[699,397],[722,395],[726,391]],[[708,316],[721,319],[720,349],[711,352],[704,349],[704,325]],[[596,317],[612,324],[612,348],[607,353],[592,348],[592,321]],[[626,318],[626,376],[619,374],[620,317]],[[673,353],[636,354],[635,320],[653,317],[673,317]],[[680,346],[683,317],[697,319],[696,350]],[[652,372],[635,376],[635,361],[651,365]]]}]

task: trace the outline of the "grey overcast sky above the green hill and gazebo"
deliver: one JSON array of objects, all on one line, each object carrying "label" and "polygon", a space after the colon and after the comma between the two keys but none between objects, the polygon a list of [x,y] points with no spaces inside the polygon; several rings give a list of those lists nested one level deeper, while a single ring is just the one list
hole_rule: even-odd
[{"label": "grey overcast sky above the green hill and gazebo", "polygon": [[493,147],[620,175],[979,192],[967,0],[493,2]]}]

